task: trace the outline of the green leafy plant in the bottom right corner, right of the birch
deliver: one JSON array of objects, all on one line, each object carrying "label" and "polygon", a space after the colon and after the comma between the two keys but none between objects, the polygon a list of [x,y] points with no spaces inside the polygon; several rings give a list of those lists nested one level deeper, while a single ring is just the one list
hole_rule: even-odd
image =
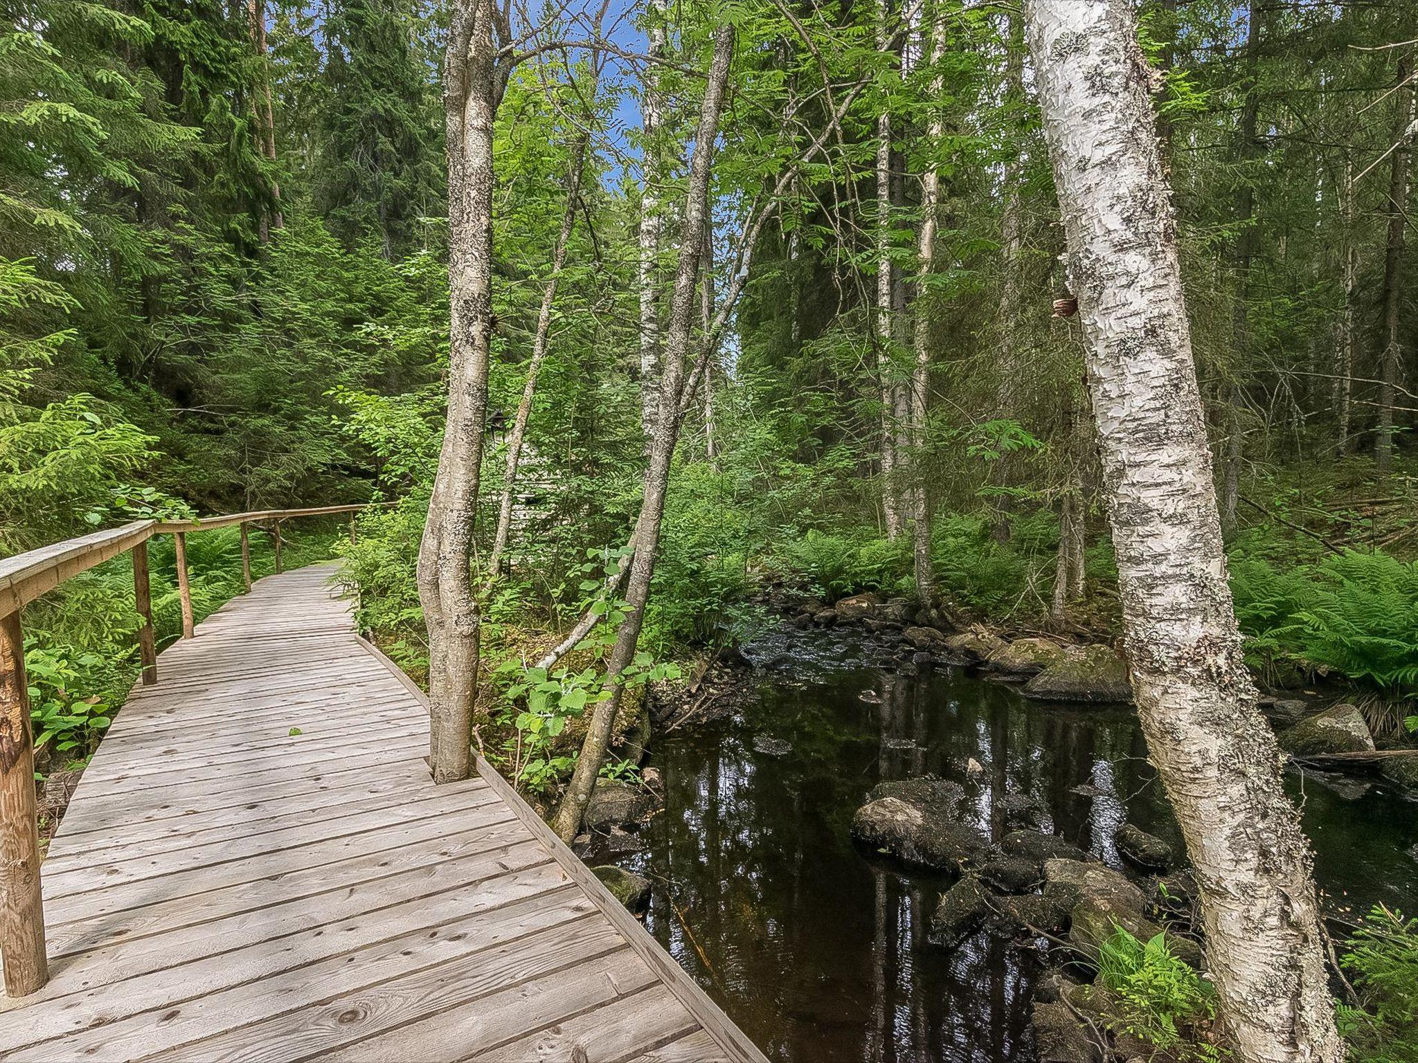
[{"label": "green leafy plant in the bottom right corner, right of the birch", "polygon": [[1418,1060],[1418,920],[1383,904],[1370,910],[1340,957],[1358,1006],[1340,1005],[1353,1063]]}]

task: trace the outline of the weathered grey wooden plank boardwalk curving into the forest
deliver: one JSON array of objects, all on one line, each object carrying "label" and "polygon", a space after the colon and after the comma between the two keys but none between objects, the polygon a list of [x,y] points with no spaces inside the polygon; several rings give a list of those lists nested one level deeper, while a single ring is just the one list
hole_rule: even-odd
[{"label": "weathered grey wooden plank boardwalk curving into the forest", "polygon": [[133,689],[0,1059],[761,1060],[495,772],[432,785],[329,575],[259,581]]}]

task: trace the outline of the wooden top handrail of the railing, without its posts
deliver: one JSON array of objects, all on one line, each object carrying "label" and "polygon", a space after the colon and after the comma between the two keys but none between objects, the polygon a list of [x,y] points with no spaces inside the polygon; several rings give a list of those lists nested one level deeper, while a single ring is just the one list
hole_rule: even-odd
[{"label": "wooden top handrail of the railing, without its posts", "polygon": [[132,550],[157,534],[211,532],[233,524],[257,520],[288,520],[316,517],[330,513],[354,513],[362,509],[393,506],[393,502],[360,502],[345,506],[309,506],[305,509],[257,509],[248,513],[224,513],[194,520],[133,520],[121,527],[91,532],[86,536],[26,550],[23,554],[0,560],[0,617],[18,612],[26,605],[48,594],[65,580],[94,566]]}]

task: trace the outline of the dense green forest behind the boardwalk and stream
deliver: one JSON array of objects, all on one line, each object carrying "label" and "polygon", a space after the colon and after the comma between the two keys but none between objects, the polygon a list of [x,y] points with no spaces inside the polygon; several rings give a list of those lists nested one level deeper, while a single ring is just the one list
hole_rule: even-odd
[{"label": "dense green forest behind the boardwalk and stream", "polygon": [[[413,564],[448,359],[445,11],[3,7],[0,547],[153,512],[400,499],[343,550],[366,626],[417,670]],[[635,519],[638,241],[659,211],[651,265],[668,278],[715,17],[696,7],[610,11],[625,55],[537,51],[498,112],[484,553],[553,272],[559,288],[493,624],[569,622],[596,598],[597,551],[614,554]],[[936,54],[909,11],[879,40],[875,6],[726,9],[753,45],[720,126],[710,308],[743,286],[678,448],[642,639],[658,656],[742,634],[764,588],[910,594],[898,524],[916,490],[940,608],[1014,628],[1116,625],[1021,18],[942,10]],[[1418,679],[1411,7],[1146,0],[1140,13],[1252,662],[1268,682],[1358,680],[1398,729]],[[668,57],[649,132],[644,71],[627,58],[647,40]],[[805,152],[814,137],[821,150]],[[939,228],[922,261],[927,171]],[[919,425],[902,412],[917,364]],[[214,604],[234,546],[197,539]],[[170,557],[156,564],[170,578]],[[74,696],[112,694],[130,673],[136,622],[104,581],[74,581],[30,625],[35,652],[78,673],[84,646],[109,648]]]}]

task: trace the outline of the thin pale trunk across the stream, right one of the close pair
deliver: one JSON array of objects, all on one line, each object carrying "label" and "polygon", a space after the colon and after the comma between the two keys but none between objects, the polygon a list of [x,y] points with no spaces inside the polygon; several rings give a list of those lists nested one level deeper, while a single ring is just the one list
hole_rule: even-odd
[{"label": "thin pale trunk across the stream, right one of the close pair", "polygon": [[[930,45],[927,61],[939,64],[946,52],[946,24],[944,13],[933,9],[930,18]],[[939,71],[930,82],[932,95],[939,99],[944,95],[944,79]],[[930,152],[940,150],[940,140],[944,136],[944,118],[939,109],[932,111],[926,125],[926,137]],[[940,213],[940,170],[929,166],[920,177],[920,237],[916,254],[920,258],[920,272],[929,274],[936,261],[936,232]],[[916,295],[915,315],[912,320],[916,349],[916,363],[910,376],[910,502],[912,502],[912,554],[916,575],[916,598],[922,605],[930,605],[936,597],[936,575],[930,563],[930,495],[926,489],[926,415],[927,397],[930,394],[930,300]]]}]

